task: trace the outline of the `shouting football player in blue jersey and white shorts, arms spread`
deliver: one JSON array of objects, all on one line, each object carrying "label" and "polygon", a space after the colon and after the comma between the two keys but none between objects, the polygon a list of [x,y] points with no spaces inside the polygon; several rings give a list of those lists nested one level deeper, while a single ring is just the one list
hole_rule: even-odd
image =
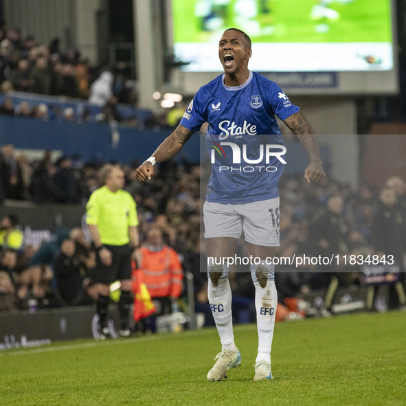
[{"label": "shouting football player in blue jersey and white shorts, arms spread", "polygon": [[258,325],[253,379],[259,381],[272,379],[271,343],[278,304],[274,265],[269,258],[279,246],[278,180],[286,163],[282,157],[286,148],[275,115],[297,135],[308,153],[306,181],[319,182],[325,174],[317,139],[297,113],[299,107],[278,84],[249,71],[249,36],[236,28],[225,30],[218,56],[224,74],[199,89],[179,126],[137,168],[136,177],[139,181],[150,179],[155,163],[174,157],[204,122],[209,124],[206,142],[212,175],[203,215],[207,256],[212,258],[207,264],[208,297],[222,351],[207,379],[221,381],[230,368],[241,363],[234,343],[229,267],[220,259],[234,256],[244,232],[250,258],[258,258],[249,268],[256,289]]}]

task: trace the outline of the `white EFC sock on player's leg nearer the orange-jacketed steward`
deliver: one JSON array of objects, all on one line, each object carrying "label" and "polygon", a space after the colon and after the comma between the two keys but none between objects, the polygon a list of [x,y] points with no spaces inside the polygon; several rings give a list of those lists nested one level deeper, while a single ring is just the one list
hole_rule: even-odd
[{"label": "white EFC sock on player's leg nearer the orange-jacketed steward", "polygon": [[[232,319],[232,290],[228,281],[227,265],[210,264],[207,295],[221,345],[225,351],[235,351]],[[212,276],[210,276],[212,273]]]}]

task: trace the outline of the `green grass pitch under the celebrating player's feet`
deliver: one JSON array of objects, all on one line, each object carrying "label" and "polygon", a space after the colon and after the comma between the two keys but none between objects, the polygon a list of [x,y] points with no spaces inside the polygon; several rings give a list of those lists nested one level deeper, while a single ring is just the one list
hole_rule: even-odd
[{"label": "green grass pitch under the celebrating player's feet", "polygon": [[406,313],[277,324],[272,381],[252,381],[256,326],[234,335],[243,363],[222,382],[206,381],[214,328],[0,352],[0,404],[405,405]]}]

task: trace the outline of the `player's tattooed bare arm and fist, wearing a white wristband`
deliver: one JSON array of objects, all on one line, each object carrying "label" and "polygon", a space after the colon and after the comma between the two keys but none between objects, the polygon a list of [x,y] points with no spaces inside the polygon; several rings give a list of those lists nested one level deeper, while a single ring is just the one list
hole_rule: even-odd
[{"label": "player's tattooed bare arm and fist, wearing a white wristband", "polygon": [[[176,130],[164,139],[162,144],[155,150],[155,153],[153,153],[152,156],[155,158],[155,161],[158,163],[173,158],[179,153],[185,142],[192,137],[192,134],[193,131],[188,130],[188,128],[181,125],[177,126]],[[135,171],[135,177],[142,182],[151,179],[153,174],[154,167],[150,161],[145,161]]]}]

